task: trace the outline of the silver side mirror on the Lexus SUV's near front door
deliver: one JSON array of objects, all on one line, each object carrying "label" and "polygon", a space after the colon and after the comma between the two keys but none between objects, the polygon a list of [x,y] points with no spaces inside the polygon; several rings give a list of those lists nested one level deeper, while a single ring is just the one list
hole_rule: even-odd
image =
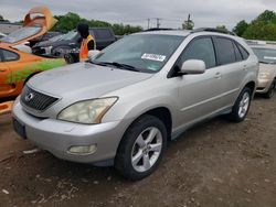
[{"label": "silver side mirror on the Lexus SUV's near front door", "polygon": [[181,74],[204,74],[205,63],[201,59],[189,59],[182,64]]}]

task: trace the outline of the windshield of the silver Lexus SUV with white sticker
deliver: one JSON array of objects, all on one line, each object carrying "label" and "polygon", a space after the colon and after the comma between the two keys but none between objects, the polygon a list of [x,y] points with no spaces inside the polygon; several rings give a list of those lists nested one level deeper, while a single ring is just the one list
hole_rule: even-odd
[{"label": "windshield of the silver Lexus SUV with white sticker", "polygon": [[95,63],[125,64],[148,73],[159,72],[184,36],[135,34],[112,44],[95,57]]}]

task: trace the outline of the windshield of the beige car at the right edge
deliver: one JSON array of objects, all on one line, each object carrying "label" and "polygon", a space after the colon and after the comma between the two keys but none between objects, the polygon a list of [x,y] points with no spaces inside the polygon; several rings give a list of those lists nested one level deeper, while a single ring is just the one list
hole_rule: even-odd
[{"label": "windshield of the beige car at the right edge", "polygon": [[261,63],[276,64],[276,50],[273,48],[253,48]]}]

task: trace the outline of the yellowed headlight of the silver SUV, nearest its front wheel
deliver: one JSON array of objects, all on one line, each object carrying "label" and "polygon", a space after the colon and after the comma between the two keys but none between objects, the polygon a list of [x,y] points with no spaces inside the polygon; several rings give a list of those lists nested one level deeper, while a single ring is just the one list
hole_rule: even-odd
[{"label": "yellowed headlight of the silver SUV, nearest its front wheel", "polygon": [[84,100],[60,112],[57,119],[76,123],[100,123],[108,109],[118,100],[117,97]]}]

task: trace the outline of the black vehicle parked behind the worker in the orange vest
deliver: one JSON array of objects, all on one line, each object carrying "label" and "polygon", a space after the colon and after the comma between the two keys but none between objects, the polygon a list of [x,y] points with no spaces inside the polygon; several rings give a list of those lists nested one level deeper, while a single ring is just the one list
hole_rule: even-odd
[{"label": "black vehicle parked behind the worker in the orange vest", "polygon": [[[103,50],[117,39],[110,28],[91,28],[89,33],[96,41],[97,50]],[[34,54],[47,54],[62,57],[66,55],[73,63],[78,62],[82,39],[76,31],[64,34],[61,39],[51,42],[41,42],[33,46]]]}]

